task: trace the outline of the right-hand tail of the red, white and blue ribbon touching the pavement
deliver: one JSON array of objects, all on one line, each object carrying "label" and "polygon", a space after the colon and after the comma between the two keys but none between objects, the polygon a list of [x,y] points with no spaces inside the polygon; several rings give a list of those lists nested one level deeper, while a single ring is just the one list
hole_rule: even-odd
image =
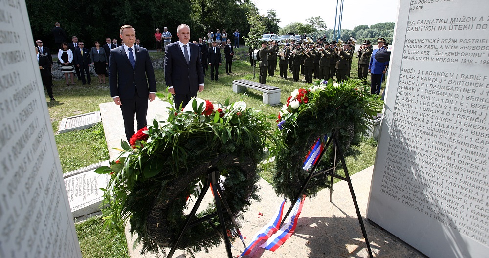
[{"label": "right-hand tail of the red, white and blue ribbon touching the pavement", "polygon": [[295,228],[297,227],[297,220],[299,219],[299,215],[301,215],[302,206],[304,205],[305,199],[306,195],[303,195],[302,198],[297,199],[294,209],[289,216],[289,222],[284,224],[279,231],[268,238],[267,242],[260,245],[260,247],[274,252],[294,234]]}]

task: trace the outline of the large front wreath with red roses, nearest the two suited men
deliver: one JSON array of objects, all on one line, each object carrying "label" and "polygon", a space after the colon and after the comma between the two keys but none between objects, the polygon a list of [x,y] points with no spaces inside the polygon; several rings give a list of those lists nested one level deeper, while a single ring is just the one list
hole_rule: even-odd
[{"label": "large front wreath with red roses, nearest the two suited men", "polygon": [[[224,195],[233,215],[241,218],[250,202],[258,200],[257,163],[266,142],[275,142],[264,113],[246,108],[242,101],[221,105],[194,98],[181,110],[168,108],[167,116],[139,130],[130,144],[121,142],[119,159],[96,171],[111,174],[105,190],[106,226],[122,230],[129,220],[130,232],[142,243],[141,253],[175,244],[187,218],[183,211],[189,196],[196,195],[209,168],[225,177]],[[215,210],[209,205],[193,219]],[[217,216],[187,229],[177,247],[207,251],[221,242],[214,228],[219,228]],[[226,228],[234,239],[229,218]]]}]

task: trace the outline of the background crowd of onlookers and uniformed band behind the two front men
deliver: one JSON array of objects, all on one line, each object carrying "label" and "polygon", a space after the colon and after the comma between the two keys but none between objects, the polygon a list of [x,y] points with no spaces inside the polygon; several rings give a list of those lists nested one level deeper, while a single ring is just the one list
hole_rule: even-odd
[{"label": "background crowd of onlookers and uniformed band behind the two front men", "polygon": [[[118,43],[117,38],[111,39],[107,37],[105,44],[98,41],[93,43],[89,49],[85,44],[78,41],[77,36],[71,37],[71,42],[67,43],[67,35],[60,28],[60,24],[56,23],[52,30],[55,44],[59,44],[58,63],[61,66],[61,71],[64,73],[66,85],[74,85],[74,76],[81,81],[82,85],[91,84],[89,73],[90,66],[93,66],[97,74],[99,84],[106,83],[106,74],[109,70],[109,58],[111,50],[120,47],[123,42]],[[232,35],[232,36],[231,36]],[[222,65],[221,50],[224,52],[226,61],[226,74],[232,73],[232,62],[234,57],[234,49],[239,48],[239,38],[241,37],[238,29],[232,34],[228,34],[225,29],[216,29],[216,32],[208,30],[207,37],[199,37],[199,41],[194,41],[200,52],[200,62],[202,73],[205,76],[210,67],[211,81],[219,80],[219,66]],[[166,47],[172,43],[172,34],[167,27],[156,29],[155,43],[156,51],[163,52]],[[232,43],[233,38],[234,43]],[[306,39],[305,36],[301,37]],[[178,40],[179,41],[179,40]],[[281,78],[288,78],[288,72],[292,74],[294,81],[299,80],[299,75],[304,76],[306,83],[311,83],[312,79],[328,80],[335,77],[337,81],[345,80],[350,77],[352,60],[355,55],[355,43],[349,40],[342,45],[338,45],[336,41],[326,42],[326,36],[318,37],[316,43],[303,40],[303,43],[296,43],[295,40],[287,40],[286,42],[263,42],[259,52],[256,53],[256,59],[259,60],[260,83],[266,84],[268,76],[274,76],[277,69],[277,62]],[[37,51],[41,55],[48,56],[49,62],[52,64],[51,51],[43,47],[41,40],[36,41]],[[134,45],[143,47],[140,40],[136,39]],[[384,38],[378,38],[378,49],[385,49],[387,44]],[[358,78],[366,79],[368,73],[372,74],[372,93],[380,93],[380,85],[384,80],[384,74],[388,68],[387,62],[378,62],[375,59],[375,54],[378,49],[373,50],[370,41],[365,40],[356,53],[358,58]],[[249,51],[250,62],[253,64],[253,51]],[[52,65],[50,65],[51,67]],[[51,69],[49,67],[49,70]],[[44,83],[44,81],[43,81]],[[45,80],[44,86],[48,89],[48,94],[51,100],[54,100],[52,95],[52,79]]]}]

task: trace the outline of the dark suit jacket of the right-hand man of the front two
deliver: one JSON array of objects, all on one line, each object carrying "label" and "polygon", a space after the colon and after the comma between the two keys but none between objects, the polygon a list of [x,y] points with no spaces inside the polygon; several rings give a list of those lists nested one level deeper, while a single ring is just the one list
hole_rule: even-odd
[{"label": "dark suit jacket of the right-hand man of the front two", "polygon": [[165,81],[167,86],[173,86],[176,94],[197,93],[199,84],[204,83],[202,53],[199,46],[194,43],[188,43],[188,46],[190,48],[188,64],[179,41],[170,43],[165,48]]}]

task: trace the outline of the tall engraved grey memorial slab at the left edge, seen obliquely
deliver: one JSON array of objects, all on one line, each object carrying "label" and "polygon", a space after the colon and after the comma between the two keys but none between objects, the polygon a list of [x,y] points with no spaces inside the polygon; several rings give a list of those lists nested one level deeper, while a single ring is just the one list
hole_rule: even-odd
[{"label": "tall engraved grey memorial slab at the left edge, seen obliquely", "polygon": [[25,1],[0,26],[0,257],[81,258]]}]

